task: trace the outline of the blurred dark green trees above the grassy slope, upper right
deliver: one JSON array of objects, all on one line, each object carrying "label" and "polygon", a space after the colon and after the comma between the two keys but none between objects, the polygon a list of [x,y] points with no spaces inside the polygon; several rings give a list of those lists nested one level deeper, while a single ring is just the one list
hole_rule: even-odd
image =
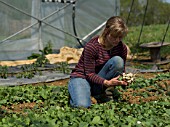
[{"label": "blurred dark green trees above the grassy slope, upper right", "polygon": [[[120,0],[120,15],[125,19],[128,18],[129,11],[133,0]],[[142,24],[146,0],[134,0],[130,13],[128,25],[138,26]],[[164,0],[148,0],[148,7],[144,25],[166,24],[170,18],[170,3]]]}]

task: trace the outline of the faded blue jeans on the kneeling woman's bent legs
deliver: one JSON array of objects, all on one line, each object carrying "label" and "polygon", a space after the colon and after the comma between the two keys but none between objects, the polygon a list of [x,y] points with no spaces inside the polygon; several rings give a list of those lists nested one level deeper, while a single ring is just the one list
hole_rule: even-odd
[{"label": "faded blue jeans on the kneeling woman's bent legs", "polygon": [[[110,80],[122,73],[123,69],[123,59],[119,56],[114,56],[106,62],[98,75]],[[70,78],[68,91],[70,94],[70,105],[85,108],[91,106],[91,95],[100,95],[104,92],[103,85],[91,84],[83,78]]]}]

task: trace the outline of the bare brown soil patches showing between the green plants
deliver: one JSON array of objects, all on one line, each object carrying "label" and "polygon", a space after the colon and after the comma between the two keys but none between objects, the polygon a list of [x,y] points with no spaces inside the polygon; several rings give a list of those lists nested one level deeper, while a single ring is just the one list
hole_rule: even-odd
[{"label": "bare brown soil patches showing between the green plants", "polygon": [[[131,63],[131,64],[136,65],[138,63]],[[170,63],[166,64],[166,65],[161,65],[161,68],[169,69]],[[160,72],[160,73],[164,73],[164,72]],[[158,73],[140,73],[140,74],[138,73],[136,75],[136,77],[143,77],[146,79],[150,79],[150,78],[155,77],[157,74]],[[69,79],[62,79],[62,80],[58,80],[58,81],[48,82],[46,84],[54,85],[54,86],[66,86],[66,85],[68,85],[68,81],[69,81]],[[38,83],[38,84],[33,84],[33,85],[43,85],[43,84],[44,83]],[[124,99],[124,101],[131,103],[131,104],[134,104],[134,103],[140,104],[141,102],[156,101],[156,100],[162,98],[166,93],[170,92],[169,89],[167,90],[167,86],[168,86],[168,88],[170,88],[169,80],[158,81],[157,84],[163,89],[164,93],[161,93],[153,86],[150,86],[150,87],[145,87],[145,88],[138,89],[138,90],[127,89],[127,91],[123,93],[122,98]],[[148,91],[148,89],[152,89],[152,91]],[[160,92],[160,93],[158,94],[158,92]],[[149,96],[143,97],[142,93],[147,93],[147,95],[149,95]],[[97,100],[95,100],[95,98],[92,97],[91,100],[92,100],[93,104],[97,103]],[[35,103],[33,102],[33,103],[15,104],[15,105],[11,105],[10,107],[2,106],[1,109],[5,109],[8,112],[12,111],[12,112],[23,113],[22,110],[24,108],[32,109],[32,108],[34,108],[34,106],[35,106]]]}]

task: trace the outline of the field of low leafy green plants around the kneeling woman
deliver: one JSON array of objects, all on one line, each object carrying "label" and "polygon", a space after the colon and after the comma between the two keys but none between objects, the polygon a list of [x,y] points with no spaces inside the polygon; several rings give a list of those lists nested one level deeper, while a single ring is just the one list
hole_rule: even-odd
[{"label": "field of low leafy green plants around the kneeling woman", "polygon": [[[69,106],[67,85],[0,87],[0,126],[170,127],[169,76],[170,72],[150,79],[139,76],[127,88],[117,87],[119,96],[114,101],[94,104],[89,109]],[[133,92],[134,98],[141,97],[140,103],[130,103],[127,94],[123,97],[128,90],[140,89],[145,90]],[[156,99],[143,101],[150,97]]]}]

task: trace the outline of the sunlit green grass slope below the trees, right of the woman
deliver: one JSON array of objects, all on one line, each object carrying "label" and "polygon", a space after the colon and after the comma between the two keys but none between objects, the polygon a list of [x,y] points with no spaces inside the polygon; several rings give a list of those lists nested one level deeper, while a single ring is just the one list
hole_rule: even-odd
[{"label": "sunlit green grass slope below the trees, right of the woman", "polygon": [[[144,52],[147,49],[142,49],[139,45],[149,42],[162,42],[166,29],[166,24],[144,26],[139,39],[141,26],[130,27],[124,42],[130,47],[132,53]],[[170,29],[167,31],[164,42],[170,42]],[[161,49],[161,55],[166,56],[168,54],[170,54],[169,46],[163,47]]]}]

